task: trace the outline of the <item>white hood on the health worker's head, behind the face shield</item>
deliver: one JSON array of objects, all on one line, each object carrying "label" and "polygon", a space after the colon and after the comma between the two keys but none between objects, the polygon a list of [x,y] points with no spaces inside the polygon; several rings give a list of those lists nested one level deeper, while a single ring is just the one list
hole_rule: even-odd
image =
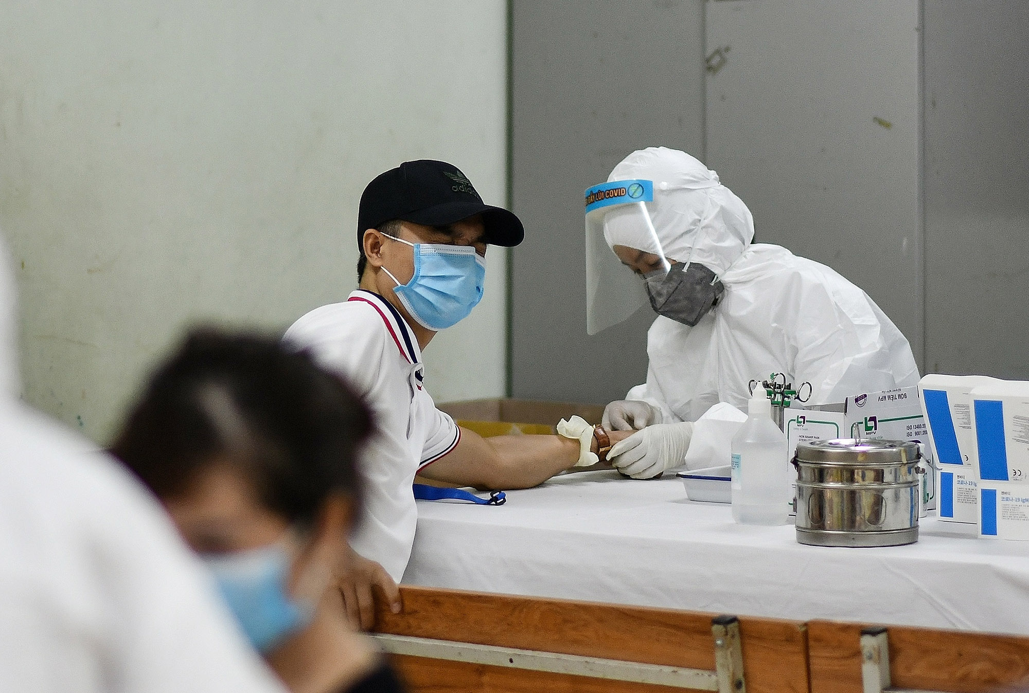
[{"label": "white hood on the health worker's head, behind the face shield", "polygon": [[[754,222],[750,210],[718,182],[718,174],[689,154],[666,147],[634,151],[608,181],[653,181],[647,205],[665,257],[699,262],[721,277],[750,246]],[[604,223],[608,247],[647,249],[648,229],[625,214],[609,214]]]}]

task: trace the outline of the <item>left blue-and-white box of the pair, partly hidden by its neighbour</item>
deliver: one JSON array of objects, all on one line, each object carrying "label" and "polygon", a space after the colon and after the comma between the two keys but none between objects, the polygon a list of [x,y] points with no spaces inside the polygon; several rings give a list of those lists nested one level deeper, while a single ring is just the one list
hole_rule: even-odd
[{"label": "left blue-and-white box of the pair, partly hidden by its neighbour", "polygon": [[936,462],[939,519],[969,528],[979,522],[979,470],[968,394],[991,382],[1000,380],[987,375],[929,374],[918,384]]}]

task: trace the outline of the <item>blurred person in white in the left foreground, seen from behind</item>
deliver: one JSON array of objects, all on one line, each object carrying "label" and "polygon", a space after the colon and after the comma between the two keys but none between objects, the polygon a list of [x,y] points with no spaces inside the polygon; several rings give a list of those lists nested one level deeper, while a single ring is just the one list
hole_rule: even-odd
[{"label": "blurred person in white in the left foreground, seen from behind", "polygon": [[281,691],[120,465],[19,401],[0,245],[0,691]]}]

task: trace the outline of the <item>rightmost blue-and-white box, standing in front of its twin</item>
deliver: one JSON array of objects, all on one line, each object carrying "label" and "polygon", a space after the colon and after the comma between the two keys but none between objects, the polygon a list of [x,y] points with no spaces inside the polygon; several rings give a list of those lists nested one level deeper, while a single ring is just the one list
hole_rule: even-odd
[{"label": "rightmost blue-and-white box, standing in front of its twin", "polygon": [[981,537],[1029,541],[1029,380],[972,388]]}]

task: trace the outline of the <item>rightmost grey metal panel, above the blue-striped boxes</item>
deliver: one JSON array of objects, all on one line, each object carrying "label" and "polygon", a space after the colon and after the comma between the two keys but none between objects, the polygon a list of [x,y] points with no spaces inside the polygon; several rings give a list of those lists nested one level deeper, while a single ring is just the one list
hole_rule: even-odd
[{"label": "rightmost grey metal panel, above the blue-striped boxes", "polygon": [[1029,3],[924,16],[926,367],[1029,379]]}]

